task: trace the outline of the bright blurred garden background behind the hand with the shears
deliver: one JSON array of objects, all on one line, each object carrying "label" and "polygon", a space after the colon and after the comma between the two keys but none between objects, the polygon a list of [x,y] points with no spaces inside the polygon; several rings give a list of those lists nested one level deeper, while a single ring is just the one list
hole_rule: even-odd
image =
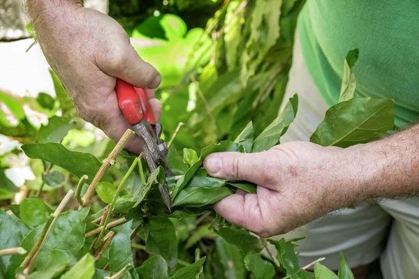
[{"label": "bright blurred garden background behind the hand with the shears", "polygon": [[[234,139],[253,121],[257,136],[276,116],[291,66],[302,0],[89,0],[117,20],[142,59],[162,77],[163,137],[185,123],[174,146],[199,151]],[[66,121],[63,121],[66,119]],[[0,1],[0,206],[42,186],[54,195],[71,176],[49,177],[20,149],[42,126],[61,121],[61,143],[101,160],[114,143],[76,114],[49,68],[23,1]],[[55,167],[54,167],[55,169]],[[53,170],[54,170],[53,169]],[[44,177],[43,177],[44,176]],[[17,190],[20,189],[20,190]]]}]

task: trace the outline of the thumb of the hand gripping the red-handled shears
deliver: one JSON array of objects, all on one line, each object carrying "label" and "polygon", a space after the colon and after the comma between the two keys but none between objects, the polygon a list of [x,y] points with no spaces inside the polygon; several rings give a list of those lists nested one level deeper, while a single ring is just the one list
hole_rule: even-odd
[{"label": "thumb of the hand gripping the red-handled shears", "polygon": [[115,36],[108,56],[99,61],[98,66],[108,75],[119,77],[135,87],[154,89],[161,82],[161,75],[149,63],[140,58],[129,38]]}]

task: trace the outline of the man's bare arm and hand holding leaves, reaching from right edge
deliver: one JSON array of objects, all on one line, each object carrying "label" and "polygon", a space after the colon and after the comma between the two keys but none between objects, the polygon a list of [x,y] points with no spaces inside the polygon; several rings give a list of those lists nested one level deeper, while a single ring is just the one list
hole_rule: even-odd
[{"label": "man's bare arm and hand holding leaves, reaching from right edge", "polygon": [[251,181],[214,205],[231,223],[260,236],[289,232],[325,214],[367,199],[419,192],[419,126],[348,149],[287,142],[260,153],[213,153],[212,176]]}]

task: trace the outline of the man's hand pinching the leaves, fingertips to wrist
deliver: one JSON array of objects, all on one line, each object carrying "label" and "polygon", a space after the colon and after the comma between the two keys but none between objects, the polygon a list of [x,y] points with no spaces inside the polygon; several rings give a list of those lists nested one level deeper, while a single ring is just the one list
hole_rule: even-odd
[{"label": "man's hand pinching the leaves, fingertips to wrist", "polygon": [[260,153],[213,153],[204,161],[208,174],[258,185],[257,194],[238,190],[214,209],[229,222],[267,237],[351,204],[351,185],[340,179],[348,168],[341,151],[288,142]]}]

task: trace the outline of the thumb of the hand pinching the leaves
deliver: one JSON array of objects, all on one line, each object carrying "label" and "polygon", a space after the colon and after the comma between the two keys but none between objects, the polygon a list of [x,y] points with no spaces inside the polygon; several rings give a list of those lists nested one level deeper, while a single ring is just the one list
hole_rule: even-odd
[{"label": "thumb of the hand pinching the leaves", "polygon": [[204,160],[208,174],[219,179],[249,181],[270,186],[275,169],[270,167],[269,151],[260,153],[212,153]]}]

